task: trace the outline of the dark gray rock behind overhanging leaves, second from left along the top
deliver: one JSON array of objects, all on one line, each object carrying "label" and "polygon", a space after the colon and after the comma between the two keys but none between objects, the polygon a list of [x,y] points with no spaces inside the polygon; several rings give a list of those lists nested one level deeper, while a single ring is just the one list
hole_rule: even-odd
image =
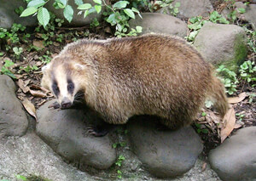
[{"label": "dark gray rock behind overhanging leaves, second from left along the top", "polygon": [[[45,8],[48,8],[49,11],[54,13],[56,15],[56,18],[65,20],[64,25],[73,25],[73,26],[90,25],[92,20],[94,20],[95,18],[97,20],[100,20],[102,18],[102,12],[104,11],[104,9],[102,9],[102,12],[99,13],[99,14],[97,14],[97,13],[89,14],[84,19],[84,13],[83,14],[78,14],[80,10],[77,9],[78,5],[76,3],[74,3],[75,1],[68,1],[68,4],[73,7],[73,20],[71,21],[71,23],[68,23],[67,20],[64,18],[63,9],[56,9],[52,6],[52,4],[54,2],[55,2],[55,0],[50,0],[49,3],[45,4]],[[96,3],[93,2],[93,0],[84,0],[84,3],[90,3],[92,5],[96,4]]]}]

